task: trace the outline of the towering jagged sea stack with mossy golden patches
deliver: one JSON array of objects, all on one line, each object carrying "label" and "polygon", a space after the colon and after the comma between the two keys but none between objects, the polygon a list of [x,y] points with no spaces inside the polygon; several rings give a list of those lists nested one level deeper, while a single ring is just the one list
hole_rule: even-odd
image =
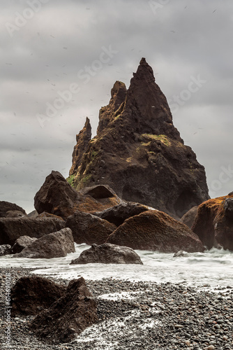
[{"label": "towering jagged sea stack with mossy golden patches", "polygon": [[75,188],[108,184],[123,200],[176,218],[208,200],[204,167],[183,144],[146,60],[141,60],[127,91],[117,82],[111,94],[110,104],[100,109],[96,137],[79,158],[79,167],[72,165],[77,169]]}]

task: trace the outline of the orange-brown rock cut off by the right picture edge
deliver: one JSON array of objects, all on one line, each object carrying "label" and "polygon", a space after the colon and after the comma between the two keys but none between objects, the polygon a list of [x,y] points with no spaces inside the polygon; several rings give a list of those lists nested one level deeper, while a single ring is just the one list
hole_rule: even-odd
[{"label": "orange-brown rock cut off by the right picture edge", "polygon": [[198,207],[192,230],[207,248],[233,251],[233,194],[208,200]]}]

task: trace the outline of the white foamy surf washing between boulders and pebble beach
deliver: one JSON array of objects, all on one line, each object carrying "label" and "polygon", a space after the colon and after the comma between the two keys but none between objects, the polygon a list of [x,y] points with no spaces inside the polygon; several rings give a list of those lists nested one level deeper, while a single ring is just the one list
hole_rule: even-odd
[{"label": "white foamy surf washing between boulders and pebble beach", "polygon": [[206,289],[233,288],[233,252],[212,248],[204,253],[185,253],[174,258],[173,253],[136,251],[144,265],[87,264],[69,265],[86,244],[75,244],[75,253],[65,258],[29,259],[14,255],[0,257],[1,267],[38,267],[36,273],[55,278],[125,279],[129,281],[156,281],[158,283],[187,283]]}]

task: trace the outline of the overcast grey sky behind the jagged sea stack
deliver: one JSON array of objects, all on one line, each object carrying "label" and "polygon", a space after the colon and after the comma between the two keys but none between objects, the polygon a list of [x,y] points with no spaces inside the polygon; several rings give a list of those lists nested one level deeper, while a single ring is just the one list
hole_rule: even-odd
[{"label": "overcast grey sky behind the jagged sea stack", "polygon": [[1,0],[0,200],[27,212],[52,170],[67,177],[75,134],[142,57],[174,125],[206,168],[211,197],[233,190],[232,0]]}]

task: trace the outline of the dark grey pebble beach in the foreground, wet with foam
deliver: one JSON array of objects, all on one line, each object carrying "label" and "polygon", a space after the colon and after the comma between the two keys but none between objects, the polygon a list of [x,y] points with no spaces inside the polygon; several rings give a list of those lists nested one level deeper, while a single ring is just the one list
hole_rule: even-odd
[{"label": "dark grey pebble beach in the foreground, wet with foam", "polygon": [[[98,323],[73,342],[51,344],[29,330],[31,316],[11,318],[6,281],[10,285],[33,269],[0,268],[1,349],[233,349],[233,286],[214,292],[183,283],[130,282],[118,279],[87,280],[98,303]],[[52,277],[47,277],[52,279]],[[67,280],[54,279],[68,284]],[[7,311],[7,312],[6,312]],[[10,344],[6,344],[10,335]]]}]

